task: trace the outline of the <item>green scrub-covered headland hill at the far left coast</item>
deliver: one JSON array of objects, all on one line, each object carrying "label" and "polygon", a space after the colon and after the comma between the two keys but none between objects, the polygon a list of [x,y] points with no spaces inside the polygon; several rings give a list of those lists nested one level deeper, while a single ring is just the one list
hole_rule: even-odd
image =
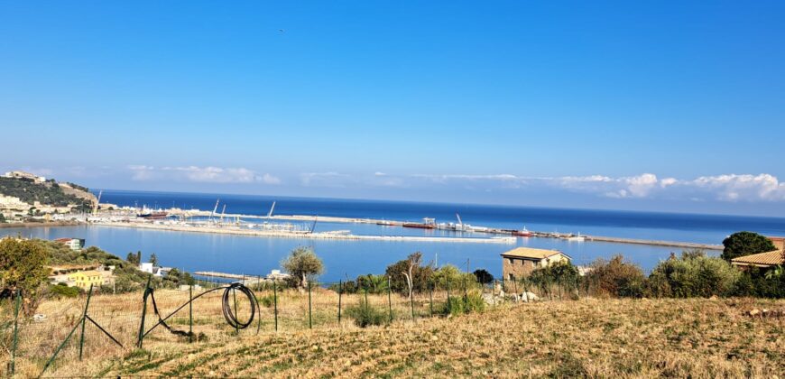
[{"label": "green scrub-covered headland hill at the far left coast", "polygon": [[[84,189],[86,188],[74,188],[71,192],[85,192],[89,195]],[[29,179],[0,178],[0,194],[19,198],[28,204],[33,204],[35,201],[55,207],[67,207],[73,204],[78,211],[88,211],[92,208],[92,202],[86,199],[88,196],[79,197],[74,193],[66,193],[54,180],[36,183]]]}]

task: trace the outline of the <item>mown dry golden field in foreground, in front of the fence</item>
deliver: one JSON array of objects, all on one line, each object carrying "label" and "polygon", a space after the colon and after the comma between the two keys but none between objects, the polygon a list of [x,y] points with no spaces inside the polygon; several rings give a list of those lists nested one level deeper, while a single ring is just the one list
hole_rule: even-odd
[{"label": "mown dry golden field in foreground, in front of the fence", "polygon": [[[508,303],[366,329],[214,330],[192,344],[161,333],[143,350],[103,346],[114,353],[92,351],[81,363],[70,353],[47,375],[783,377],[785,318],[749,316],[755,309],[785,301]],[[32,368],[21,373],[39,374]]]}]

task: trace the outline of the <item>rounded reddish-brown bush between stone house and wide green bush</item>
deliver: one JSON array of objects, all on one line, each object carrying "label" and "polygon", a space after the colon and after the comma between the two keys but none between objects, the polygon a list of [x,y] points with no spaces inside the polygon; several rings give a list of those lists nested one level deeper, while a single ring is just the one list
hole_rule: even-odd
[{"label": "rounded reddish-brown bush between stone house and wide green bush", "polygon": [[615,255],[610,261],[597,259],[590,267],[585,280],[596,295],[624,298],[643,295],[646,277],[641,267],[624,261],[622,255]]}]

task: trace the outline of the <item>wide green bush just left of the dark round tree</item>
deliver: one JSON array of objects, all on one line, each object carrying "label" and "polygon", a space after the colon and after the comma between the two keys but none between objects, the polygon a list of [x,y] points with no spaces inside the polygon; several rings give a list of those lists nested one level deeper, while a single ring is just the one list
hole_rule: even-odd
[{"label": "wide green bush just left of the dark round tree", "polygon": [[688,251],[657,264],[649,276],[649,291],[657,297],[727,296],[736,290],[740,277],[739,270],[722,258]]}]

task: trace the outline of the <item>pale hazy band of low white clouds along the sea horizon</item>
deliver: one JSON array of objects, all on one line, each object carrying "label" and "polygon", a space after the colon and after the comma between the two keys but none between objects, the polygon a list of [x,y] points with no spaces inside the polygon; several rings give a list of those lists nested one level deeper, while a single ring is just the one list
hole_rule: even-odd
[{"label": "pale hazy band of low white clouds along the sea horizon", "polygon": [[[676,178],[651,172],[631,176],[526,176],[512,173],[274,172],[218,165],[132,164],[22,169],[104,189],[149,189],[278,196],[398,199],[544,207],[711,211],[780,216],[785,182],[770,173]],[[714,210],[716,209],[716,210]],[[779,209],[779,210],[778,210]]]}]

